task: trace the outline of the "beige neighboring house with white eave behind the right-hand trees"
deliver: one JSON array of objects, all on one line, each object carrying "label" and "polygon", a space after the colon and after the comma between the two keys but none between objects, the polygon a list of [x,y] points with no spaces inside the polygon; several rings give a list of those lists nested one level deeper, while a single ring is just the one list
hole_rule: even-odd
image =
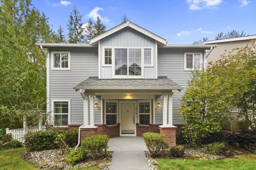
[{"label": "beige neighboring house with white eave behind the right-hand trees", "polygon": [[[256,44],[256,35],[249,35],[244,37],[237,37],[237,38],[226,38],[221,40],[213,40],[213,41],[206,41],[204,45],[218,45],[216,48],[212,50],[208,50],[206,53],[206,60],[207,63],[210,62],[217,62],[224,56],[228,54],[234,55],[237,53],[237,48],[244,48],[246,46],[252,47]],[[243,117],[238,117],[239,108],[236,106],[233,107],[231,111],[231,116],[235,120],[242,120]]]}]

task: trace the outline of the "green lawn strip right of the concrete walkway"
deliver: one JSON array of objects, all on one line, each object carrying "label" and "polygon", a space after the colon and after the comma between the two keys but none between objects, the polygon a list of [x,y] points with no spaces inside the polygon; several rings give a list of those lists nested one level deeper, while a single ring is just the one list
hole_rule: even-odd
[{"label": "green lawn strip right of the concrete walkway", "polygon": [[222,160],[158,159],[159,170],[256,170],[256,154]]}]

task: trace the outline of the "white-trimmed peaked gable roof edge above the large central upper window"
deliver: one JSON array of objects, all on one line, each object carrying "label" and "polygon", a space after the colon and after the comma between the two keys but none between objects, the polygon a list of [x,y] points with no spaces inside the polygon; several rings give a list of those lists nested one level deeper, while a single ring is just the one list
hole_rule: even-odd
[{"label": "white-trimmed peaked gable roof edge above the large central upper window", "polygon": [[140,26],[138,26],[138,25],[136,25],[136,24],[133,24],[133,23],[127,21],[127,22],[125,22],[125,23],[119,24],[119,25],[117,25],[117,26],[115,26],[115,27],[109,29],[108,31],[106,31],[106,32],[104,32],[104,33],[102,33],[102,34],[100,34],[100,35],[98,35],[98,36],[96,36],[96,37],[90,39],[90,40],[89,40],[89,44],[90,44],[90,45],[95,44],[95,43],[97,43],[100,39],[105,38],[105,37],[107,37],[107,36],[109,36],[109,35],[111,35],[111,34],[117,32],[117,31],[119,31],[119,30],[125,28],[125,27],[131,27],[131,28],[133,28],[133,29],[135,29],[135,30],[141,32],[142,34],[145,34],[145,35],[149,36],[150,38],[157,40],[158,42],[160,42],[160,43],[163,44],[163,45],[166,45],[167,42],[168,42],[167,40],[163,39],[162,37],[160,37],[160,36],[158,36],[158,35],[156,35],[156,34],[150,32],[150,31],[148,31],[148,30],[146,30],[146,29],[144,29],[144,28],[142,28],[142,27],[140,27]]}]

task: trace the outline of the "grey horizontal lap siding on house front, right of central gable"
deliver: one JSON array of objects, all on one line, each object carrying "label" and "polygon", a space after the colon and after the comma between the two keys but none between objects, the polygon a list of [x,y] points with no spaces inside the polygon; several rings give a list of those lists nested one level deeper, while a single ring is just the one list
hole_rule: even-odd
[{"label": "grey horizontal lap siding on house front, right of central gable", "polygon": [[[173,124],[182,123],[179,119],[179,108],[191,79],[191,71],[184,71],[184,52],[202,52],[204,63],[204,49],[158,48],[158,76],[167,76],[184,88],[181,92],[173,90]],[[162,96],[156,97],[156,103],[162,103],[162,100]],[[162,108],[156,109],[155,122],[162,123]]]}]

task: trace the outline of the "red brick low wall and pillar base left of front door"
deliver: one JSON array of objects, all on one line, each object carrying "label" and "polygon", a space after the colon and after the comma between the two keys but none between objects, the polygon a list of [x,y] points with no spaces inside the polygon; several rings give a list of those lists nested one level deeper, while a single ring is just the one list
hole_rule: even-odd
[{"label": "red brick low wall and pillar base left of front door", "polygon": [[[106,124],[95,124],[97,128],[81,128],[81,141],[93,135],[107,135],[109,138],[120,136],[120,124],[107,126]],[[79,127],[79,126],[78,126]]]}]

